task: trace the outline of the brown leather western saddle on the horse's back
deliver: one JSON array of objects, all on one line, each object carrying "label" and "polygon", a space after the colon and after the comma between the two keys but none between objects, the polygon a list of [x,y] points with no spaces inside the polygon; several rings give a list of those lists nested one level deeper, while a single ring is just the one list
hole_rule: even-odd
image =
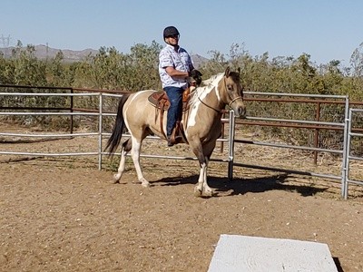
[{"label": "brown leather western saddle on the horse's back", "polygon": [[[189,100],[191,98],[191,91],[193,91],[195,87],[191,86],[187,89],[185,89],[184,92],[182,92],[182,115],[185,115],[186,112],[189,110]],[[163,112],[167,111],[170,107],[170,102],[168,95],[165,91],[159,91],[159,92],[153,92],[149,98],[148,101],[152,104],[152,106],[155,107],[155,121],[158,118],[158,115],[160,114],[160,131],[162,131],[162,135],[165,136],[166,134],[163,130]],[[181,120],[178,120],[176,122],[175,128],[172,130],[172,143],[188,143],[185,137],[184,128],[182,126]]]}]

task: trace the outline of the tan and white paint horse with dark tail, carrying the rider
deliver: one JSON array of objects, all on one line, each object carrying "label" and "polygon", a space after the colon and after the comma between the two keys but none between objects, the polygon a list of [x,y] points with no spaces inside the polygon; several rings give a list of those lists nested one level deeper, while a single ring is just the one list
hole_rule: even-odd
[{"label": "tan and white paint horse with dark tail, carrying the rider", "polygon": [[[143,90],[124,94],[120,99],[113,131],[107,141],[105,151],[113,156],[117,150],[125,127],[130,138],[123,142],[118,171],[113,175],[114,183],[121,180],[125,170],[125,157],[131,151],[132,161],[139,183],[150,187],[140,165],[142,141],[148,135],[157,135],[166,140],[167,111],[155,113],[155,107],[148,101],[154,90]],[[199,161],[200,173],[194,189],[197,197],[211,197],[215,192],[208,185],[207,170],[211,153],[217,139],[221,136],[221,116],[226,105],[234,112],[235,117],[244,118],[246,107],[243,102],[243,90],[240,84],[240,69],[232,72],[229,67],[224,73],[217,73],[196,87],[190,94],[188,110],[182,113],[184,142],[189,144],[191,151]],[[162,122],[160,118],[163,118]]]}]

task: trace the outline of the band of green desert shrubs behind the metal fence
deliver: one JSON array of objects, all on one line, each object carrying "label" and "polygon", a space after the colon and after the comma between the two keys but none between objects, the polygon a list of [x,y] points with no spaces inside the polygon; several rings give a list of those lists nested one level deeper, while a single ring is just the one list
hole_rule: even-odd
[{"label": "band of green desert shrubs behind the metal fence", "polygon": [[[269,53],[252,56],[244,44],[231,44],[229,54],[210,51],[211,57],[201,63],[199,70],[203,78],[221,73],[227,66],[241,68],[241,83],[245,91],[286,92],[304,94],[348,95],[350,100],[363,100],[363,44],[352,53],[350,67],[342,67],[337,60],[317,65],[310,61],[309,53],[298,57],[278,56],[270,59]],[[32,86],[59,86],[92,88],[136,92],[144,89],[161,89],[158,73],[158,55],[161,44],[135,44],[130,53],[120,53],[114,47],[101,47],[95,55],[88,55],[83,61],[65,63],[62,52],[53,59],[38,60],[34,56],[34,46],[23,47],[19,42],[10,58],[0,55],[0,83]],[[16,88],[2,88],[4,92],[20,92]],[[29,89],[28,92],[67,92],[64,90]],[[0,97],[0,105],[68,107],[65,98],[54,97]],[[114,111],[117,100],[105,100],[105,108]],[[98,109],[98,99],[84,97],[74,100],[74,107]],[[282,119],[314,120],[315,106],[309,103],[249,102],[251,116],[266,116]],[[336,105],[323,105],[320,110],[322,121],[342,121],[344,111]],[[25,123],[29,120],[20,120]],[[33,118],[31,122],[42,122],[47,126],[55,122],[50,117]],[[66,121],[64,121],[66,123]],[[82,125],[82,122],[76,122]],[[90,121],[94,124],[94,121]],[[108,125],[108,124],[106,124]],[[298,141],[311,144],[312,136],[301,131],[286,128],[259,128],[267,137],[277,136],[284,141]],[[341,144],[339,133],[319,131],[322,147]]]}]

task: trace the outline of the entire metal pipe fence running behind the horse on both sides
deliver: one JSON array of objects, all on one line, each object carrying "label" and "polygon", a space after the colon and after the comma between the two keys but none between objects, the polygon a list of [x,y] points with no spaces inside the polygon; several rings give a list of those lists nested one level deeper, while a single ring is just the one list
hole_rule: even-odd
[{"label": "entire metal pipe fence running behind the horse on both sides", "polygon": [[[33,87],[34,88],[34,87]],[[59,89],[59,88],[54,88]],[[68,90],[68,88],[66,88]],[[27,156],[49,156],[49,157],[60,157],[60,156],[97,156],[98,157],[98,168],[102,169],[103,165],[103,156],[108,155],[108,153],[103,151],[103,139],[110,135],[108,132],[103,131],[103,123],[104,118],[106,117],[114,117],[116,114],[113,112],[107,112],[104,109],[104,99],[107,97],[119,99],[123,94],[120,92],[103,92],[103,90],[87,90],[87,89],[78,89],[75,91],[80,91],[80,93],[69,92],[69,93],[35,93],[35,92],[0,92],[1,96],[68,96],[71,98],[74,97],[94,97],[98,100],[98,109],[97,110],[84,110],[82,109],[67,109],[68,112],[64,112],[64,108],[54,109],[57,112],[9,112],[8,108],[0,108],[0,116],[16,116],[16,115],[60,115],[60,116],[92,116],[97,119],[97,127],[96,131],[91,132],[73,132],[73,124],[71,124],[71,133],[48,133],[48,134],[22,134],[22,133],[14,133],[14,132],[0,132],[0,136],[5,137],[48,137],[48,138],[65,138],[65,137],[96,137],[97,138],[97,148],[93,151],[83,151],[83,152],[16,152],[16,151],[1,151],[0,155],[27,155]],[[262,96],[265,95],[267,97],[273,96],[281,96],[281,97],[299,97],[300,100],[305,103],[311,102],[316,104],[321,103],[331,103],[331,104],[342,104],[344,106],[344,120],[341,122],[336,121],[320,121],[319,118],[314,121],[306,121],[306,120],[294,120],[294,119],[286,119],[286,118],[274,118],[274,117],[260,117],[260,116],[249,116],[246,121],[235,120],[233,112],[230,112],[228,118],[223,118],[223,123],[227,124],[229,127],[229,132],[227,137],[222,137],[218,141],[221,142],[221,146],[224,142],[228,142],[228,154],[226,158],[222,159],[212,159],[211,161],[219,161],[228,163],[228,177],[229,179],[233,179],[233,169],[235,167],[245,167],[245,168],[253,168],[260,170],[273,170],[273,171],[282,171],[286,173],[299,174],[299,175],[307,175],[319,178],[327,178],[331,180],[339,180],[341,183],[341,193],[344,199],[348,198],[348,185],[349,184],[358,184],[363,185],[363,181],[361,180],[353,180],[349,178],[349,170],[351,168],[351,160],[363,160],[358,156],[354,156],[350,154],[350,142],[354,137],[363,136],[361,133],[358,133],[361,128],[354,128],[351,126],[352,114],[354,112],[361,112],[363,110],[353,110],[349,109],[349,101],[347,96],[327,96],[327,95],[310,95],[310,94],[291,94],[291,93],[270,93],[270,92],[246,92],[245,94],[250,95],[248,100],[253,101],[252,96]],[[303,99],[301,99],[303,98]],[[319,101],[314,101],[314,99],[319,99]],[[329,101],[330,99],[330,101]],[[339,102],[332,102],[331,99],[338,99]],[[263,101],[262,101],[263,100]],[[257,99],[260,102],[271,102],[271,98]],[[272,101],[276,101],[276,99],[272,98]],[[283,99],[284,102],[297,102],[295,99]],[[280,101],[281,102],[281,101]],[[73,104],[73,102],[72,102]],[[319,108],[319,107],[318,107]],[[31,111],[32,109],[28,109]],[[316,114],[319,116],[319,113]],[[73,121],[72,121],[73,122]],[[277,123],[277,124],[276,124]],[[240,129],[241,126],[268,126],[268,125],[277,125],[280,127],[283,126],[291,126],[294,128],[307,128],[307,129],[315,129],[319,130],[338,130],[343,131],[344,142],[342,149],[327,149],[327,148],[319,148],[318,145],[315,146],[298,146],[291,144],[281,144],[276,142],[267,142],[267,141],[250,141],[246,139],[241,139],[236,136],[236,130]],[[224,131],[224,128],[223,128]],[[358,131],[358,132],[357,132]],[[123,135],[127,137],[127,134]],[[224,136],[224,135],[223,135]],[[150,139],[159,139],[158,137],[149,137]],[[331,175],[329,173],[318,173],[312,171],[304,171],[304,170],[291,170],[291,169],[280,169],[277,167],[270,166],[262,166],[262,165],[252,165],[249,163],[245,163],[243,161],[236,161],[234,150],[237,145],[240,144],[253,144],[260,146],[267,146],[271,148],[283,148],[283,149],[294,149],[301,151],[312,151],[312,152],[329,152],[332,154],[337,154],[342,157],[342,167],[341,167],[341,175]],[[172,159],[172,160],[197,160],[193,157],[185,157],[185,156],[162,156],[162,155],[146,155],[142,154],[142,157],[147,158],[157,158],[157,159]]]}]

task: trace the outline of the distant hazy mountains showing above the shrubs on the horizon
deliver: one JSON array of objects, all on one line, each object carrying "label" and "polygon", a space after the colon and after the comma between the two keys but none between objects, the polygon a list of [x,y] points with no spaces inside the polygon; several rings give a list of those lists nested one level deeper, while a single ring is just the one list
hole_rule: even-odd
[{"label": "distant hazy mountains showing above the shrubs on the horizon", "polygon": [[[69,49],[55,49],[51,48],[44,44],[35,45],[35,56],[38,59],[45,60],[46,58],[54,58],[56,53],[62,51],[64,54],[64,62],[66,63],[73,63],[73,62],[80,62],[82,61],[86,56],[88,55],[95,55],[98,53],[98,50],[94,50],[91,48],[84,49],[81,51],[75,51],[75,50],[69,50]],[[15,47],[7,47],[7,48],[0,48],[0,52],[4,53],[5,57],[10,56],[12,53],[12,50],[15,49]],[[201,63],[205,63],[208,61],[207,58],[202,57],[199,54],[191,54],[191,59],[194,63],[195,68],[198,69],[198,67],[201,66]]]}]

